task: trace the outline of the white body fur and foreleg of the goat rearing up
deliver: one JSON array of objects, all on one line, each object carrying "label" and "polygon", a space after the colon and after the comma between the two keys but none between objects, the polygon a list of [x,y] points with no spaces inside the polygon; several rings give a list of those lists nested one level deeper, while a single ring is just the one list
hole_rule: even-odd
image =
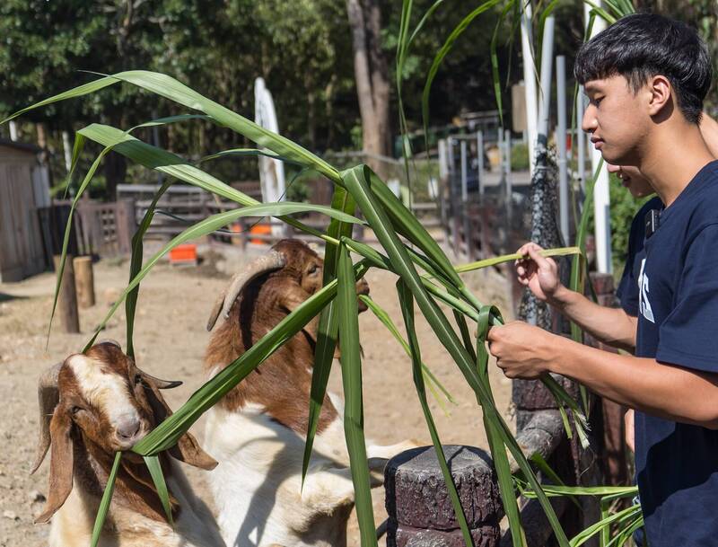
[{"label": "white body fur and foreleg of the goat rearing up", "polygon": [[[344,405],[329,394],[338,417],[314,439],[302,489],[304,437],[256,404],[207,412],[205,448],[219,462],[209,474],[217,522],[227,547],[344,547],[354,486],[343,428]],[[307,398],[307,400],[309,397]],[[367,443],[373,486],[387,459],[413,443]]]}]

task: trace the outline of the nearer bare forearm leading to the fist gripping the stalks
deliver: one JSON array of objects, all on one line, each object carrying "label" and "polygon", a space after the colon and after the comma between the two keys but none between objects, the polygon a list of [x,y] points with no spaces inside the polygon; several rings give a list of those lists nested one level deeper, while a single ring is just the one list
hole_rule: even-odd
[{"label": "nearer bare forearm leading to the fist gripping the stalks", "polygon": [[562,337],[554,342],[550,372],[653,416],[718,428],[718,375],[621,356]]}]

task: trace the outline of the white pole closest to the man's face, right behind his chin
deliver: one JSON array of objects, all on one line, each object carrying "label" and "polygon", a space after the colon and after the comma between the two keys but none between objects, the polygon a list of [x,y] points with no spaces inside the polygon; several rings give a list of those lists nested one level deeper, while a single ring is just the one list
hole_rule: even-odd
[{"label": "white pole closest to the man's face, right behind his chin", "polygon": [[[596,2],[600,6],[600,1]],[[589,22],[591,6],[583,4],[583,13],[586,16],[586,25]],[[591,37],[606,28],[606,22],[596,17],[593,22]],[[594,147],[591,150],[592,172],[596,172],[601,160],[600,151]],[[611,226],[610,226],[610,197],[609,197],[609,172],[604,163],[593,187],[593,217],[596,227],[596,262],[600,273],[611,273]]]}]

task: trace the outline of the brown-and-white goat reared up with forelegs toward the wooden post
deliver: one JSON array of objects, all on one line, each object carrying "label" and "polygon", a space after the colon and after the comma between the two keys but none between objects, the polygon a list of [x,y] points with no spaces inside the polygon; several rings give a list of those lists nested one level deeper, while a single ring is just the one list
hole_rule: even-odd
[{"label": "brown-and-white goat reared up with forelegs toward the wooden post", "polygon": [[[320,289],[323,262],[297,241],[277,243],[237,274],[215,304],[227,318],[206,352],[215,375]],[[368,293],[362,279],[359,293]],[[311,463],[302,489],[316,322],[311,322],[208,412],[205,445],[219,465],[210,473],[223,539],[233,547],[343,547],[354,507],[354,487],[343,428],[344,406],[325,397]],[[383,481],[386,461],[414,443],[374,446],[367,452],[372,481]]]}]

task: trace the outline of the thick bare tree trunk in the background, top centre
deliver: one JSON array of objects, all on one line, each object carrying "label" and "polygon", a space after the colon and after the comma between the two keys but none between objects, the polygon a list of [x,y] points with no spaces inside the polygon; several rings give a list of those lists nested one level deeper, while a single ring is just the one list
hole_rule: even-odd
[{"label": "thick bare tree trunk in the background, top centre", "polygon": [[377,0],[346,0],[352,30],[354,72],[362,116],[363,151],[367,163],[381,177],[377,155],[389,155],[389,76],[381,51],[381,10]]}]

